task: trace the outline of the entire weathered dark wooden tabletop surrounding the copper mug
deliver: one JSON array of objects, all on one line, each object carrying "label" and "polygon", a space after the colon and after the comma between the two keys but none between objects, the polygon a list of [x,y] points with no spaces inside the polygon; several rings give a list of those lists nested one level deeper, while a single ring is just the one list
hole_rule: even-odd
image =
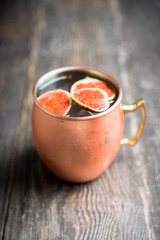
[{"label": "entire weathered dark wooden tabletop surrounding the copper mug", "polygon": [[[145,131],[97,180],[69,184],[41,163],[32,87],[69,65],[113,75],[146,100]],[[160,1],[6,0],[0,8],[0,238],[160,239]],[[140,114],[126,117],[133,136]]]}]

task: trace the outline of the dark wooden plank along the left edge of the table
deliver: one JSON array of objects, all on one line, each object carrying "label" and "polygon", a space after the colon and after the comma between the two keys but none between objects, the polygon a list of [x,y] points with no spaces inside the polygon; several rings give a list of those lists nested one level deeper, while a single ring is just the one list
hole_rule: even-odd
[{"label": "dark wooden plank along the left edge of the table", "polygon": [[[0,8],[0,236],[3,237],[14,173],[16,128],[19,122],[32,16],[35,3],[4,2]],[[26,12],[28,10],[28,12]],[[29,20],[29,21],[28,21]],[[24,27],[25,26],[25,27]]]}]

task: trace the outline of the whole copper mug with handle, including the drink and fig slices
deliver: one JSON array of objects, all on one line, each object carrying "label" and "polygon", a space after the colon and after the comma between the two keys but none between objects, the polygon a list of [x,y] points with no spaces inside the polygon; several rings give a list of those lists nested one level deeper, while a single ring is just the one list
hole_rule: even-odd
[{"label": "whole copper mug with handle, including the drink and fig slices", "polygon": [[[121,145],[133,146],[145,124],[143,99],[123,105],[122,89],[108,74],[65,67],[42,76],[33,89],[32,129],[36,149],[57,177],[86,182],[100,176]],[[135,138],[123,138],[124,114],[142,108]]]}]

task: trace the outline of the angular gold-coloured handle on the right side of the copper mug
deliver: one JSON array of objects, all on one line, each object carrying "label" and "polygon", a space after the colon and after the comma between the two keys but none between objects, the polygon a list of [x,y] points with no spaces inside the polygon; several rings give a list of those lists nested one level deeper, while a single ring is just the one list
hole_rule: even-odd
[{"label": "angular gold-coloured handle on the right side of the copper mug", "polygon": [[139,126],[138,132],[136,134],[136,136],[133,139],[129,139],[129,138],[122,138],[120,141],[121,145],[129,145],[129,146],[134,146],[137,141],[139,140],[144,126],[145,126],[145,122],[146,122],[146,105],[145,105],[145,101],[143,99],[139,99],[138,101],[136,101],[135,103],[131,104],[131,105],[125,105],[123,104],[123,111],[124,114],[126,113],[130,113],[130,112],[136,112],[139,109],[142,109],[142,120],[141,120],[141,124]]}]

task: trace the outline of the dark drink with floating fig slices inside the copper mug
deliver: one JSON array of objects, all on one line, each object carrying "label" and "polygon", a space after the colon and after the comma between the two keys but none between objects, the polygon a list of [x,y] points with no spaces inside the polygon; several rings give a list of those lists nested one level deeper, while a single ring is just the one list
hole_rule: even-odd
[{"label": "dark drink with floating fig slices inside the copper mug", "polygon": [[85,117],[107,110],[117,99],[113,84],[85,77],[62,75],[40,88],[38,102],[51,111],[67,117]]}]

